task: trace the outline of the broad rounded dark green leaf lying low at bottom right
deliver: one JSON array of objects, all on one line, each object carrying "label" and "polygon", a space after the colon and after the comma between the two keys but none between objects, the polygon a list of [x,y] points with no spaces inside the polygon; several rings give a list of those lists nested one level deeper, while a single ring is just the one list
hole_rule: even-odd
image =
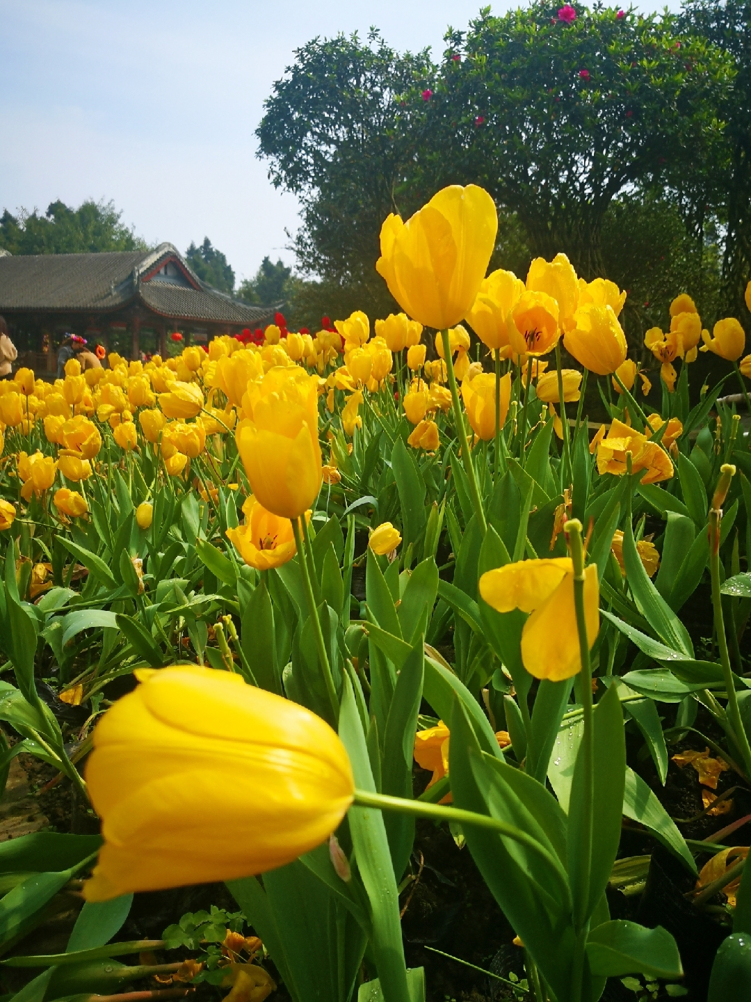
[{"label": "broad rounded dark green leaf lying low at bottom right", "polygon": [[646,974],[653,978],[683,976],[678,947],[667,930],[662,926],[645,929],[625,919],[604,922],[590,932],[587,959],[592,973],[606,978],[622,974]]}]

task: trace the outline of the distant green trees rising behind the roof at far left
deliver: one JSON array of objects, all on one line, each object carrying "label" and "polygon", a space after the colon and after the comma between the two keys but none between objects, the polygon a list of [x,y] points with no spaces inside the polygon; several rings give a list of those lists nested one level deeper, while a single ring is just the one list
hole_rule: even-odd
[{"label": "distant green trees rising behind the roof at far left", "polygon": [[44,215],[7,208],[0,216],[0,247],[12,255],[96,254],[106,250],[147,249],[132,227],[121,222],[112,201],[88,199],[78,208],[53,201]]}]

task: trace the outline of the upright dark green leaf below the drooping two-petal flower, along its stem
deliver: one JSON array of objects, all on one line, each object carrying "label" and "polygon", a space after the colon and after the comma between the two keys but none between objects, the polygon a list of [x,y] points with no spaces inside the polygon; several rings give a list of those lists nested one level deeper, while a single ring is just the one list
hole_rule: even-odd
[{"label": "upright dark green leaf below the drooping two-petal flower, along its stem", "polygon": [[[574,916],[579,921],[591,917],[605,894],[621,841],[621,817],[626,775],[626,741],[623,710],[618,691],[611,686],[597,703],[593,725],[592,802],[586,803],[586,759],[584,740],[579,746],[571,785],[568,870],[574,899]],[[584,825],[592,825],[589,871]]]}]

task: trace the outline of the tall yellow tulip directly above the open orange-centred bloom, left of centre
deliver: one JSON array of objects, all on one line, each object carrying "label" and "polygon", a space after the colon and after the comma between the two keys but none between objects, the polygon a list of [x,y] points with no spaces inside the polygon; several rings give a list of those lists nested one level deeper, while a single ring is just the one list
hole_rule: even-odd
[{"label": "tall yellow tulip directly above the open orange-centred bloom, left of centre", "polygon": [[252,493],[274,515],[298,518],[322,477],[317,377],[297,366],[271,369],[242,406],[250,417],[237,425],[235,442]]}]

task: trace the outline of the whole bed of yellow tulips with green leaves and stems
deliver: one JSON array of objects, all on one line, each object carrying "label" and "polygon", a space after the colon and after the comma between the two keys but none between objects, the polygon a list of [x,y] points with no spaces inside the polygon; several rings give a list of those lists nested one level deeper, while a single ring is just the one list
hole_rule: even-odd
[{"label": "whole bed of yellow tulips with green leaves and stems", "polygon": [[372,331],[0,382],[2,779],[101,820],[0,844],[7,998],[748,997],[743,327],[681,293],[632,361],[496,225],[390,216]]}]

